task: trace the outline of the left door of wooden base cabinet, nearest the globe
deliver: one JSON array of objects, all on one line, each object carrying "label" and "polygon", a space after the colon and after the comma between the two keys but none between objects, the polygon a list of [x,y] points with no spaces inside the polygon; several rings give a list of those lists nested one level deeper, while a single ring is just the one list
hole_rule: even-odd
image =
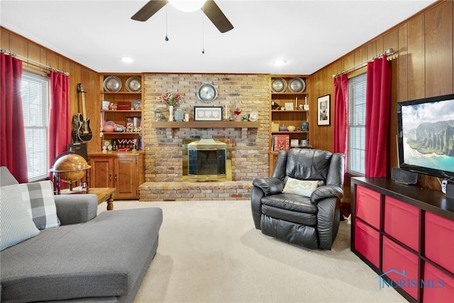
[{"label": "left door of wooden base cabinet, nearest the globe", "polygon": [[114,187],[114,160],[110,157],[90,157],[90,187]]}]

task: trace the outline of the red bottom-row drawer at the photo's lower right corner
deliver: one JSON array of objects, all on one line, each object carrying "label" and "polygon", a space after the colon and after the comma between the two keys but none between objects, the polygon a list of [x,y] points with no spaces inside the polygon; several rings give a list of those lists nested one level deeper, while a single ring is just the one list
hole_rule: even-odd
[{"label": "red bottom-row drawer at the photo's lower right corner", "polygon": [[[429,263],[424,264],[423,302],[453,302],[454,279]],[[422,287],[422,285],[421,285]]]}]

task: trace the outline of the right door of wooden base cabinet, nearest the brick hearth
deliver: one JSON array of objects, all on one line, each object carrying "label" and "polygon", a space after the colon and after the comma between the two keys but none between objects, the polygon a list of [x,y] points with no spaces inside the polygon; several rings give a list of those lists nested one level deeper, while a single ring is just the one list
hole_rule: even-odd
[{"label": "right door of wooden base cabinet, nearest the brick hearth", "polygon": [[137,157],[115,159],[115,199],[138,199]]}]

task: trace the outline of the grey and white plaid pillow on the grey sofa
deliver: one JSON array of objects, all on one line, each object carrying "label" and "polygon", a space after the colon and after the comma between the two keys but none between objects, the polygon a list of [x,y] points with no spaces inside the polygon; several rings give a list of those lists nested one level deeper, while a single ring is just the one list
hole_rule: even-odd
[{"label": "grey and white plaid pillow on the grey sofa", "polygon": [[22,202],[38,229],[60,226],[55,207],[52,182],[18,184]]}]

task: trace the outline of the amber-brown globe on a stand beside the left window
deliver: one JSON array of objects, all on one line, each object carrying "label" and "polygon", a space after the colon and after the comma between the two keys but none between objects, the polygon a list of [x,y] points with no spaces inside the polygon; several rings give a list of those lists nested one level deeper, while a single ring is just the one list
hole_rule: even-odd
[{"label": "amber-brown globe on a stand beside the left window", "polygon": [[82,156],[69,154],[57,158],[50,171],[58,172],[60,180],[63,182],[74,182],[81,180],[85,175],[85,170],[90,167]]}]

